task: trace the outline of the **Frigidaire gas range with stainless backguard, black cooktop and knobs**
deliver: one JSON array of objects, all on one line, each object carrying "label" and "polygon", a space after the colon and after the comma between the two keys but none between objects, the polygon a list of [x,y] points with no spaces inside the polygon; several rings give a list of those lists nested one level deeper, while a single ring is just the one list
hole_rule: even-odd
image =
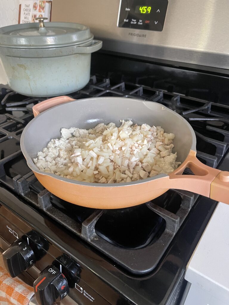
[{"label": "Frigidaire gas range with stainless backguard, black cooktop and knobs", "polygon": [[[204,2],[55,0],[52,20],[86,24],[103,41],[89,83],[71,98],[158,102],[191,124],[202,163],[227,170],[228,1]],[[186,267],[218,203],[175,189],[118,210],[57,198],[20,150],[32,106],[45,99],[0,85],[0,250],[9,273],[26,276],[42,305],[184,305]]]}]

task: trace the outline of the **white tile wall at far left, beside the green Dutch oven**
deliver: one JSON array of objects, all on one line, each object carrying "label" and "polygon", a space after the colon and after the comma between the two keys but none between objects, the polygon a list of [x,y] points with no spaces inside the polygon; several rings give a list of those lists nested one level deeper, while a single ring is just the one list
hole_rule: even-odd
[{"label": "white tile wall at far left, beside the green Dutch oven", "polygon": [[[0,0],[0,27],[18,23],[20,0]],[[0,84],[6,84],[7,79],[0,60]]]}]

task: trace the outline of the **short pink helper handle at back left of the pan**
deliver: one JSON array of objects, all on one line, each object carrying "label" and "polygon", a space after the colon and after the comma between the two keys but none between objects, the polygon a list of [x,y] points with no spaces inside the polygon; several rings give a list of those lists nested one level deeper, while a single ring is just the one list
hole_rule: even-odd
[{"label": "short pink helper handle at back left of the pan", "polygon": [[33,106],[34,117],[36,117],[39,113],[42,113],[43,111],[49,108],[52,108],[53,106],[64,104],[71,101],[75,101],[75,100],[65,95],[53,97],[52,99],[46,99],[45,101],[40,102],[37,105]]}]

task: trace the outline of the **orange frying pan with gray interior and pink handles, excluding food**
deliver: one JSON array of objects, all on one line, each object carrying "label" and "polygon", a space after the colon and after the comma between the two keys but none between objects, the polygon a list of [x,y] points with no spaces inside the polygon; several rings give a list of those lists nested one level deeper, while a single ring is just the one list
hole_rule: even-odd
[{"label": "orange frying pan with gray interior and pink handles, excluding food", "polygon": [[[96,209],[117,209],[152,200],[169,188],[194,192],[229,204],[229,172],[201,163],[196,158],[196,137],[191,125],[179,114],[156,102],[103,97],[74,100],[59,96],[33,107],[35,118],[24,128],[21,150],[36,178],[49,192],[68,202]],[[174,150],[182,164],[171,174],[129,183],[87,183],[38,170],[33,162],[38,151],[52,138],[60,138],[62,127],[93,128],[119,120],[162,126],[175,134]],[[182,175],[185,168],[194,175]]]}]

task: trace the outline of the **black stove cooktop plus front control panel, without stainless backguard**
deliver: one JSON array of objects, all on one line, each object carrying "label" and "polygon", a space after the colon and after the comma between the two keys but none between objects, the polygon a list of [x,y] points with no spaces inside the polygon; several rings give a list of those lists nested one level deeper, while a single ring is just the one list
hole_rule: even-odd
[{"label": "black stove cooktop plus front control panel, without stainless backguard", "polygon": [[[93,55],[91,72],[85,88],[69,96],[161,103],[192,125],[199,160],[227,168],[228,77],[104,52]],[[36,279],[48,265],[58,268],[67,278],[72,304],[180,304],[185,267],[217,203],[173,189],[118,210],[90,209],[57,198],[37,181],[20,150],[32,106],[45,98],[23,96],[5,86],[0,93],[0,248],[19,239],[27,242],[36,260],[27,274]]]}]

